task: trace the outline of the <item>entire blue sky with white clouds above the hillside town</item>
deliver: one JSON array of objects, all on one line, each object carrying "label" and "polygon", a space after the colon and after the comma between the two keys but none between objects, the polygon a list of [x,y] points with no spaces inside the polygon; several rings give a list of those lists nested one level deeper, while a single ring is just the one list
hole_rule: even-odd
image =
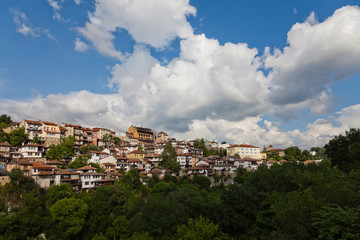
[{"label": "entire blue sky with white clouds above the hillside town", "polygon": [[0,113],[322,147],[360,127],[359,5],[2,0]]}]

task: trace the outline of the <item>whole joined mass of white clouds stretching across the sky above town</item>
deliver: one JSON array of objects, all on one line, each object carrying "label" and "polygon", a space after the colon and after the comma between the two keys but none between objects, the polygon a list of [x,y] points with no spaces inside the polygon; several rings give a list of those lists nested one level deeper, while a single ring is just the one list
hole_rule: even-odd
[{"label": "whole joined mass of white clouds stretching across the sky above town", "polygon": [[[360,119],[358,105],[342,109],[332,119],[320,118],[305,131],[283,131],[278,123],[261,117],[272,114],[291,120],[309,107],[313,114],[334,109],[331,84],[360,69],[358,7],[343,7],[321,23],[311,13],[291,28],[288,46],[267,48],[259,56],[246,43],[221,45],[204,34],[194,35],[186,15],[195,14],[195,9],[188,1],[142,2],[146,16],[154,19],[143,15],[140,2],[97,1],[89,21],[79,29],[100,53],[122,60],[111,69],[113,94],[82,91],[28,102],[3,101],[0,110],[19,118],[42,116],[122,131],[136,124],[180,138],[302,148],[322,146],[360,125],[355,120]],[[126,29],[137,42],[126,58],[113,44],[117,29]],[[142,29],[145,32],[138,35]],[[164,47],[176,37],[182,38],[178,57],[161,64],[151,56],[150,47]],[[270,70],[267,76],[264,68]]]}]

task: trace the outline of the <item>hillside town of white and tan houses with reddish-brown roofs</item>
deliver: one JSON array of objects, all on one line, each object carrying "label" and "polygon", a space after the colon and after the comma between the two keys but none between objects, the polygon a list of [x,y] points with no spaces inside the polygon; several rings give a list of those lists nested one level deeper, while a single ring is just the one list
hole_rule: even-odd
[{"label": "hillside town of white and tan houses with reddish-brown roofs", "polygon": [[[101,127],[28,119],[9,125],[2,130],[3,133],[21,129],[28,139],[18,147],[7,141],[0,143],[0,168],[7,172],[19,168],[44,188],[68,183],[76,191],[94,189],[114,184],[131,169],[139,172],[143,184],[147,184],[152,176],[162,179],[166,175],[231,178],[236,176],[239,168],[253,171],[261,165],[269,168],[286,162],[281,159],[285,155],[284,149],[275,149],[271,145],[261,151],[260,147],[249,144],[178,140],[163,131],[156,133],[139,126],[130,126],[127,132],[116,133]],[[54,149],[67,139],[72,139],[72,154],[54,156]],[[162,154],[169,148],[175,151],[179,169],[161,164]],[[274,153],[281,160],[268,159],[268,154]],[[81,160],[83,164],[77,165],[81,167],[71,168],[72,163]],[[314,161],[308,160],[304,164],[309,162]],[[2,176],[0,181],[4,184],[9,178]]]}]

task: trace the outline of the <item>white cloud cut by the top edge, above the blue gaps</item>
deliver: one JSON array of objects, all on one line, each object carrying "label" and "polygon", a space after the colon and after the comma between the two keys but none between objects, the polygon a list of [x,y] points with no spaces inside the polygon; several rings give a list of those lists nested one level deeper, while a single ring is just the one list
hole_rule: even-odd
[{"label": "white cloud cut by the top edge, above the blue gaps", "polygon": [[123,60],[114,47],[113,32],[123,29],[137,43],[163,48],[176,37],[192,35],[186,16],[195,13],[189,0],[97,0],[89,21],[78,30],[100,53]]}]

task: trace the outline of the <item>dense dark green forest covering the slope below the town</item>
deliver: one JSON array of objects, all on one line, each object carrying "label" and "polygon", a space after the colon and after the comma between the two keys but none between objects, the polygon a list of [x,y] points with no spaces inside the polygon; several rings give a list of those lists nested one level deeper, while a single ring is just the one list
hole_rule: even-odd
[{"label": "dense dark green forest covering the slope below the town", "polygon": [[318,165],[239,169],[234,184],[168,176],[143,185],[130,170],[75,193],[13,170],[0,189],[0,239],[360,239],[359,143],[351,129]]}]

